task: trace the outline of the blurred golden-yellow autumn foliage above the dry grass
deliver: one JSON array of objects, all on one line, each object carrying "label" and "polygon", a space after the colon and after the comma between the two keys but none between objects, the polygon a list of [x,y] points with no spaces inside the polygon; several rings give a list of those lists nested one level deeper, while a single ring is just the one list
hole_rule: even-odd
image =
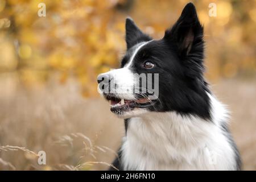
[{"label": "blurred golden-yellow autumn foliage above the dry grass", "polygon": [[[39,17],[39,3],[46,17]],[[117,68],[125,51],[125,18],[154,38],[162,38],[187,1],[1,0],[0,71],[16,72],[24,85],[75,77],[84,96],[97,96],[98,73]],[[207,77],[252,76],[256,72],[256,2],[196,1],[205,28]]]}]

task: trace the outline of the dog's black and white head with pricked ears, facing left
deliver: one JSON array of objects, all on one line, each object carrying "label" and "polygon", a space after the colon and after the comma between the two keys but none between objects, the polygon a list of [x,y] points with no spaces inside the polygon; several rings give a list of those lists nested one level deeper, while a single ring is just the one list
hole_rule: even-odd
[{"label": "dog's black and white head with pricked ears, facing left", "polygon": [[144,34],[127,18],[126,44],[121,68],[98,76],[99,90],[113,113],[122,118],[149,111],[209,117],[203,27],[192,3],[160,40]]}]

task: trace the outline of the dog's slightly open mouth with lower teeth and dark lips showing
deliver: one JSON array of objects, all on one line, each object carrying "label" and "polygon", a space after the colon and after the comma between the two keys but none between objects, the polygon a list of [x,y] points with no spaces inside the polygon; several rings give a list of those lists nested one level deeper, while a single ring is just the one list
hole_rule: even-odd
[{"label": "dog's slightly open mouth with lower teeth and dark lips showing", "polygon": [[154,101],[148,98],[126,100],[124,98],[115,97],[114,94],[107,94],[105,98],[109,101],[110,110],[115,114],[123,114],[135,108],[146,108],[154,105]]}]

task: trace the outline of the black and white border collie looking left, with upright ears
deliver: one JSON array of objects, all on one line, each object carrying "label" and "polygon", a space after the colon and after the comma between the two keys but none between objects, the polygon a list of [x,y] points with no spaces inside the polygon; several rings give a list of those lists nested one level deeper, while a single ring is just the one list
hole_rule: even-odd
[{"label": "black and white border collie looking left, with upright ears", "polygon": [[[203,76],[203,27],[195,6],[188,3],[160,40],[153,40],[127,18],[126,43],[121,68],[98,76],[110,110],[125,119],[126,136],[114,166],[121,170],[241,169],[228,130],[228,113]],[[154,90],[157,97],[150,97],[150,84],[141,86],[143,74],[157,75],[151,80],[151,88],[159,88]]]}]

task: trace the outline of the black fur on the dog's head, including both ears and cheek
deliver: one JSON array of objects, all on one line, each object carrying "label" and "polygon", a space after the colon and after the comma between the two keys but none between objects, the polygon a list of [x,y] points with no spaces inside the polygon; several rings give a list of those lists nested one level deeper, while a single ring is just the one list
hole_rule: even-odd
[{"label": "black fur on the dog's head, including both ears and cheek", "polygon": [[[130,59],[133,46],[151,38],[144,34],[130,18],[126,19],[127,53],[121,67]],[[145,69],[144,61],[151,61],[155,68]],[[203,27],[197,18],[195,6],[184,7],[180,18],[168,29],[163,39],[153,40],[143,46],[134,57],[134,73],[159,73],[159,102],[148,109],[195,114],[210,120],[210,106],[204,80]],[[154,85],[153,85],[154,86]],[[169,97],[166,97],[169,96]]]}]

